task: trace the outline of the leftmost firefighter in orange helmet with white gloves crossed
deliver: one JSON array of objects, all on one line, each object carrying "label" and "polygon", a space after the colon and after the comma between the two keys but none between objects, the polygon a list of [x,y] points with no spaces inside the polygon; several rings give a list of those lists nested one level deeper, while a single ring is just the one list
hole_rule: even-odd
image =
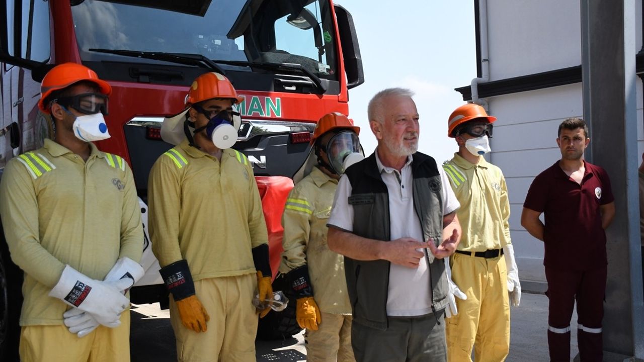
[{"label": "leftmost firefighter in orange helmet with white gloves crossed", "polygon": [[129,361],[124,294],[144,273],[140,208],[128,164],[90,142],[109,137],[110,92],[81,64],[52,68],[38,105],[55,137],[12,158],[0,182],[6,242],[24,271],[23,362]]}]

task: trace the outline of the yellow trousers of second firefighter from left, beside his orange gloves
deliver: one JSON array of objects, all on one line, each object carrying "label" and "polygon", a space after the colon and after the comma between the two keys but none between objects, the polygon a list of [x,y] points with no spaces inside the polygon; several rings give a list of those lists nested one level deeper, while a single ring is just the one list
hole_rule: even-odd
[{"label": "yellow trousers of second firefighter from left, beside his orange gloves", "polygon": [[194,281],[194,291],[210,321],[208,330],[197,333],[181,324],[170,298],[170,323],[175,330],[179,362],[255,361],[258,316],[252,305],[257,289],[255,274]]}]

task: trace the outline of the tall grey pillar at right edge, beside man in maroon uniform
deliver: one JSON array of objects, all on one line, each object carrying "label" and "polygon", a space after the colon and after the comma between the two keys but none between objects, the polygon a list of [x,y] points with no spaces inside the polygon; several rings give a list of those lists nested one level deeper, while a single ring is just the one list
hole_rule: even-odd
[{"label": "tall grey pillar at right edge, beside man in maroon uniform", "polygon": [[607,229],[604,361],[642,361],[635,0],[581,0],[581,9],[583,118],[591,131],[587,158],[609,173],[616,206]]}]

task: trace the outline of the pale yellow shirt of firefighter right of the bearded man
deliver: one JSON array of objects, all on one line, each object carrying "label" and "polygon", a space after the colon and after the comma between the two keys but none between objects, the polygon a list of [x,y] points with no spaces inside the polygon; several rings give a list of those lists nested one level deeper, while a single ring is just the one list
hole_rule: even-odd
[{"label": "pale yellow shirt of firefighter right of the bearded man", "polygon": [[480,158],[471,164],[458,153],[443,164],[460,202],[462,236],[459,250],[486,251],[511,243],[510,204],[501,169]]}]

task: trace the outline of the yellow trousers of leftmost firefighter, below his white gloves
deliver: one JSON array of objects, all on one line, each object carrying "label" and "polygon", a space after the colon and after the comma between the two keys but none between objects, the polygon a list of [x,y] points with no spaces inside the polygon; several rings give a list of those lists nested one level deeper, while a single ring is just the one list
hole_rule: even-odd
[{"label": "yellow trousers of leftmost firefighter, below his white gloves", "polygon": [[64,325],[26,325],[20,334],[22,362],[128,362],[129,309],[120,317],[121,325],[100,325],[79,338]]}]

